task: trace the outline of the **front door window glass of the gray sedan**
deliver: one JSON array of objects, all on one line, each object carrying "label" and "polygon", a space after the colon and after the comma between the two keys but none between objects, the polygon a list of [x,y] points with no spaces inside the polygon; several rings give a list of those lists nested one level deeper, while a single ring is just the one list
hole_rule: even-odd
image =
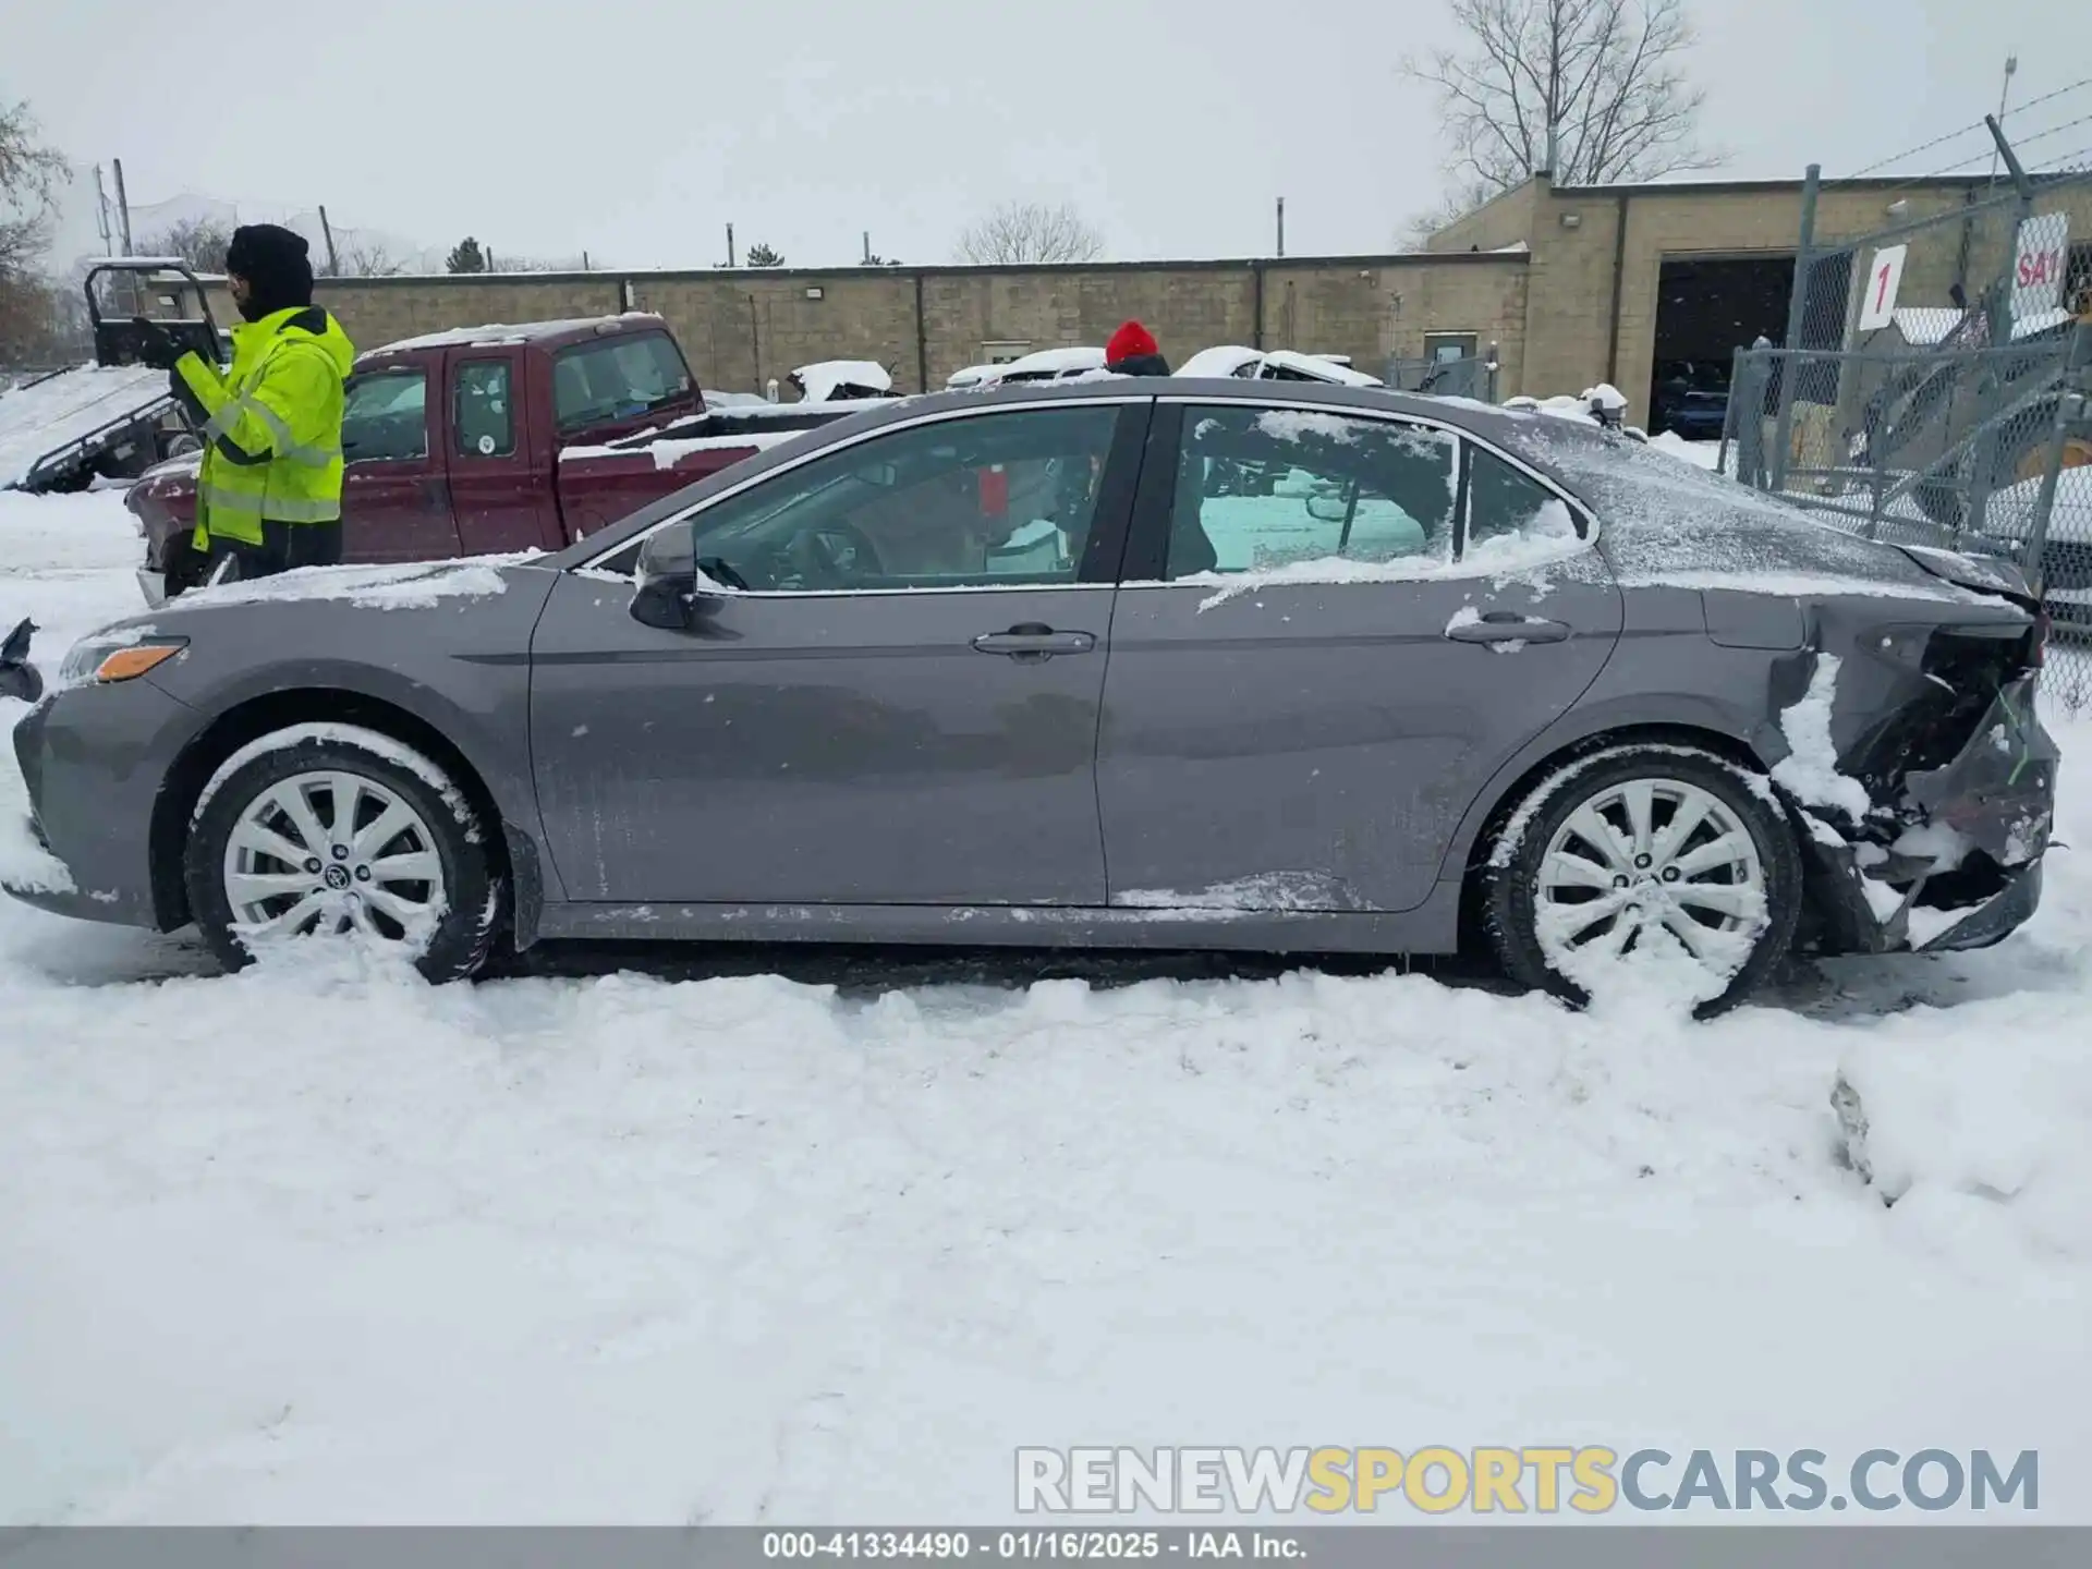
[{"label": "front door window glass of the gray sedan", "polygon": [[692,552],[755,590],[1075,582],[1115,429],[1090,406],[879,435],[699,513]]}]

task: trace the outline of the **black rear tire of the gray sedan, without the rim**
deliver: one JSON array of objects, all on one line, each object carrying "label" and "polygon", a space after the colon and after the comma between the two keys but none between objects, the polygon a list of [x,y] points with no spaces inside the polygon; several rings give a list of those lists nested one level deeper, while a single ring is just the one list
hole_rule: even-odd
[{"label": "black rear tire of the gray sedan, without the rim", "polygon": [[1496,956],[1513,981],[1552,992],[1575,1006],[1590,996],[1546,958],[1536,920],[1540,862],[1556,831],[1588,801],[1638,780],[1680,780],[1713,795],[1757,845],[1766,874],[1766,925],[1728,987],[1695,1008],[1711,1019],[1751,996],[1782,962],[1801,920],[1801,847],[1787,814],[1726,757],[1669,743],[1623,743],[1588,753],[1542,780],[1510,814],[1490,847],[1481,877],[1481,910]]}]

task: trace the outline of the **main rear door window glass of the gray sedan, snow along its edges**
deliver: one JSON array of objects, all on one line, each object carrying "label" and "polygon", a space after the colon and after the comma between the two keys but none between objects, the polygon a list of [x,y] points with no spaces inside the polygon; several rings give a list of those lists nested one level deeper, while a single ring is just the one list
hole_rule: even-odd
[{"label": "main rear door window glass of the gray sedan, snow along its edges", "polygon": [[1289,408],[1184,410],[1163,575],[1448,561],[1452,435]]}]

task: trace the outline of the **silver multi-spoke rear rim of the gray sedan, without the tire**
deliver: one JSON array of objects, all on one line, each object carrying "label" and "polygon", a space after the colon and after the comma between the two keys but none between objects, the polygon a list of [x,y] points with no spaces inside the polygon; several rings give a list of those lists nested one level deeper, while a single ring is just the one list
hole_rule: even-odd
[{"label": "silver multi-spoke rear rim of the gray sedan, without the tire", "polygon": [[1669,933],[1734,975],[1766,927],[1766,866],[1734,808],[1680,778],[1632,778],[1554,831],[1533,889],[1533,935],[1559,975]]}]

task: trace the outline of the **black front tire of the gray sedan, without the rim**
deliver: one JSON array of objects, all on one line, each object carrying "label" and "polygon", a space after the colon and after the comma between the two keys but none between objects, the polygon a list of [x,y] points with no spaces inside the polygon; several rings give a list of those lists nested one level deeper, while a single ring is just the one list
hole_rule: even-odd
[{"label": "black front tire of the gray sedan, without the rim", "polygon": [[[245,747],[232,772],[224,768],[205,787],[192,812],[184,881],[188,908],[205,943],[228,971],[245,969],[253,954],[234,933],[234,912],[224,887],[226,845],[247,808],[274,784],[299,774],[349,774],[397,795],[429,828],[431,849],[444,870],[444,912],[414,958],[429,981],[479,975],[494,952],[506,914],[508,889],[487,854],[490,824],[471,799],[425,755],[377,730],[349,724],[291,726]],[[437,782],[439,780],[439,782]]]}]

